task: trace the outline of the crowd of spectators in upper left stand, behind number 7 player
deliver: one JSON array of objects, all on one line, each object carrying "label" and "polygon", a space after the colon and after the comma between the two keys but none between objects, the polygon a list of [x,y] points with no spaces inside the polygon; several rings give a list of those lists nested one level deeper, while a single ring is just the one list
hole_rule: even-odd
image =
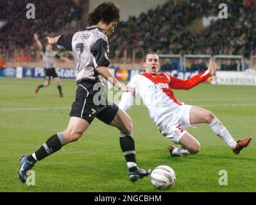
[{"label": "crowd of spectators in upper left stand, behind number 7 player", "polygon": [[[35,19],[27,19],[26,5],[35,5]],[[49,33],[64,28],[72,20],[81,18],[82,10],[70,0],[1,0],[0,53],[6,49],[28,49],[33,44],[33,33],[45,39]]]}]

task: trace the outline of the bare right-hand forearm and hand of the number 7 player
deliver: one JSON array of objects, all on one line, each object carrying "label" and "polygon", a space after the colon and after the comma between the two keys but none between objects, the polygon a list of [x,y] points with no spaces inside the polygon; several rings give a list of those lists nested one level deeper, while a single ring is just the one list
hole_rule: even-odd
[{"label": "bare right-hand forearm and hand of the number 7 player", "polygon": [[132,92],[132,95],[135,95],[136,90],[130,86],[124,86],[119,83],[119,81],[109,72],[107,67],[98,67],[96,68],[97,72],[107,79],[112,85],[114,85],[121,92]]}]

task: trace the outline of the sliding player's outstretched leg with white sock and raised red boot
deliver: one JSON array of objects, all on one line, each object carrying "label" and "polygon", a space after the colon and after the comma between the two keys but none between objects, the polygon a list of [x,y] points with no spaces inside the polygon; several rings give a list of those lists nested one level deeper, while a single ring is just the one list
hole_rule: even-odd
[{"label": "sliding player's outstretched leg with white sock and raised red boot", "polygon": [[246,147],[248,143],[250,143],[251,138],[248,137],[245,140],[235,142],[234,138],[225,126],[219,121],[219,119],[209,110],[205,110],[203,108],[199,108],[196,106],[192,106],[190,109],[190,123],[192,125],[206,123],[209,124],[212,131],[218,135],[223,141],[235,152],[235,154],[239,154],[241,149]]}]

